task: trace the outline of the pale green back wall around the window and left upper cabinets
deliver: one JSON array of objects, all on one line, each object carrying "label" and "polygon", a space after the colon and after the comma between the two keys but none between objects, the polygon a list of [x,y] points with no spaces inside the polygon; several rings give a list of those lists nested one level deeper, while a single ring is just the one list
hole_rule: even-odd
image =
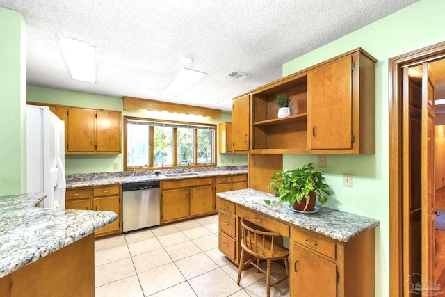
[{"label": "pale green back wall around the window and left upper cabinets", "polygon": [[[79,106],[92,109],[110,109],[115,111],[123,110],[122,98],[118,97],[92,95],[67,90],[57,90],[54,88],[42,88],[37,86],[28,86],[27,93],[27,99],[30,102]],[[215,120],[211,117],[146,110],[123,111],[122,115],[136,116],[141,118],[179,120],[185,122],[204,122],[211,124],[232,121],[231,113],[223,113],[221,115],[221,120]],[[122,134],[122,142],[123,139],[124,138]],[[65,171],[67,174],[122,171],[123,162],[123,154],[67,154],[65,155]],[[118,170],[113,170],[113,163],[118,163]],[[247,154],[217,154],[218,166],[247,165],[247,163]]]}]

